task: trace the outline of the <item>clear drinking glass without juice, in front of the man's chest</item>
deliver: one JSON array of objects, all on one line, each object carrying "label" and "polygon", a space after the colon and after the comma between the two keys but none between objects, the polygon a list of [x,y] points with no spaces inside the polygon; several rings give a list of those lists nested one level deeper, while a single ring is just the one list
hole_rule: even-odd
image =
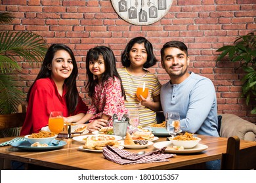
[{"label": "clear drinking glass without juice, in front of the man's chest", "polygon": [[167,112],[165,117],[165,129],[169,135],[174,136],[180,131],[180,114],[179,112]]}]

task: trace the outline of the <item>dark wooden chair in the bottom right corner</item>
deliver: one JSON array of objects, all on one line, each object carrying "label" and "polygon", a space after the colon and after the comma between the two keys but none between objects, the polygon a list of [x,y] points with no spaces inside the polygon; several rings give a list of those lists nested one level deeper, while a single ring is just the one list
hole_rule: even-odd
[{"label": "dark wooden chair in the bottom right corner", "polygon": [[237,136],[229,137],[226,153],[221,158],[223,170],[256,169],[256,146],[240,150],[240,139]]}]

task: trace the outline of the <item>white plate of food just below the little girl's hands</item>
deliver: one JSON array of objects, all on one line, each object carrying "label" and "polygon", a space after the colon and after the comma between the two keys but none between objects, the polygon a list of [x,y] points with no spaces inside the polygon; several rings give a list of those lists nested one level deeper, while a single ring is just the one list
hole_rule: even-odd
[{"label": "white plate of food just below the little girl's hands", "polygon": [[117,136],[117,135],[100,135],[100,134],[98,134],[98,135],[81,135],[81,136],[73,137],[73,139],[77,142],[85,144],[87,139],[91,139],[93,141],[108,141],[108,140],[120,141],[123,138],[120,136]]}]

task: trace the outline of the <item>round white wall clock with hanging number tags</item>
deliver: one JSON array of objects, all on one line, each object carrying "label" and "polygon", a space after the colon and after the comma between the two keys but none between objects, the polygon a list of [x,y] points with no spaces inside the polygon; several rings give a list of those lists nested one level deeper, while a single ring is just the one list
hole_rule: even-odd
[{"label": "round white wall clock with hanging number tags", "polygon": [[111,0],[117,14],[134,25],[150,25],[161,20],[173,0]]}]

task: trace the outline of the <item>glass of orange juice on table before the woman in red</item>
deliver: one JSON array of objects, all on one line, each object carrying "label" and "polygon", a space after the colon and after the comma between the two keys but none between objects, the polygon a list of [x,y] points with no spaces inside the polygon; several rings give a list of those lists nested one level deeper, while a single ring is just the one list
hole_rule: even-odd
[{"label": "glass of orange juice on table before the woman in red", "polygon": [[63,130],[64,119],[61,111],[53,111],[49,117],[49,129],[50,131],[58,134]]}]

